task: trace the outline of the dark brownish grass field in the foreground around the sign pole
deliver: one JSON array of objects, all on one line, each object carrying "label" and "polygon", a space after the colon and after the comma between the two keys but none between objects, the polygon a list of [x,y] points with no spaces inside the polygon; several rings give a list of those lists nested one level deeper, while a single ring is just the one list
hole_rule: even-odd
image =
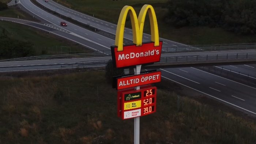
[{"label": "dark brownish grass field in the foreground around the sign pole", "polygon": [[[104,74],[2,77],[1,143],[133,143],[133,119],[117,117],[117,91]],[[255,121],[189,98],[181,98],[177,111],[174,92],[182,89],[170,87],[169,92],[158,88],[157,112],[140,118],[141,144],[255,143]]]}]

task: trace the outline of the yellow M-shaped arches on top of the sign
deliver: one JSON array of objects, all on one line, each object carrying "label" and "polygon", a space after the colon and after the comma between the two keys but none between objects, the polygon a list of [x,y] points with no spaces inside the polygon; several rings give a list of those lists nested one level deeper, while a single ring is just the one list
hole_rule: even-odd
[{"label": "yellow M-shaped arches on top of the sign", "polygon": [[117,51],[123,51],[123,41],[124,41],[124,26],[127,14],[131,17],[132,23],[132,35],[133,43],[137,46],[142,45],[142,36],[143,36],[143,27],[146,14],[150,19],[150,30],[151,30],[151,41],[155,42],[154,46],[159,46],[159,34],[158,34],[158,25],[157,17],[155,15],[154,8],[151,5],[145,4],[139,13],[139,19],[137,18],[136,12],[131,6],[125,5],[121,10],[116,30],[116,41],[115,45],[117,46]]}]

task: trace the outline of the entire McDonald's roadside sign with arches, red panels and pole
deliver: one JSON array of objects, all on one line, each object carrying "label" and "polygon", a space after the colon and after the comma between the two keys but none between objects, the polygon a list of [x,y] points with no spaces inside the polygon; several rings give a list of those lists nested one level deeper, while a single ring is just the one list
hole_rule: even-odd
[{"label": "entire McDonald's roadside sign with arches, red panels and pole", "polygon": [[[132,22],[132,34],[134,44],[124,46],[124,26],[128,14],[130,15]],[[149,15],[150,19],[151,42],[142,42],[143,27],[146,14]],[[140,10],[139,17],[137,17],[135,10],[131,6],[124,6],[118,19],[115,46],[111,46],[111,53],[114,67],[129,68],[135,66],[135,75],[117,78],[116,82],[117,115],[118,117],[120,116],[123,119],[134,118],[135,144],[139,144],[139,117],[142,115],[154,113],[156,102],[156,88],[154,89],[153,96],[153,89],[148,90],[145,94],[145,92],[140,91],[140,86],[161,81],[161,72],[148,72],[140,75],[140,69],[142,64],[159,62],[161,57],[161,51],[162,41],[159,42],[157,18],[154,8],[151,5],[143,5],[142,9]],[[120,90],[126,91],[122,89],[132,87],[134,87],[132,91],[127,91],[128,96],[125,95],[126,93],[124,94],[120,92]],[[136,94],[136,92],[138,92],[138,94]]]}]

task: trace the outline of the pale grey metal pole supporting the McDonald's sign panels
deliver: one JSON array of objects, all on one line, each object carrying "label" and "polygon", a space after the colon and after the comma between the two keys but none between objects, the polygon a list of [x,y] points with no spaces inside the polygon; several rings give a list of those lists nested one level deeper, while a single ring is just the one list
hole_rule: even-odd
[{"label": "pale grey metal pole supporting the McDonald's sign panels", "polygon": [[[136,65],[136,68],[134,68],[134,74],[139,75],[140,74],[141,65]],[[140,89],[140,86],[135,88],[136,90]],[[140,117],[134,118],[134,144],[140,143]]]}]

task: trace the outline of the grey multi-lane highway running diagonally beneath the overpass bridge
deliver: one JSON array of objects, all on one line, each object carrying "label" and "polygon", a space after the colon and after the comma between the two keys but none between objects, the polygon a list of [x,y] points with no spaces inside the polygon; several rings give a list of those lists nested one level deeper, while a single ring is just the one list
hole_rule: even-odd
[{"label": "grey multi-lane highway running diagonally beneath the overpass bridge", "polygon": [[[39,2],[43,3],[42,1],[39,1]],[[30,12],[47,20],[49,22],[48,24],[55,24],[56,26],[59,26],[60,21],[64,21],[63,19],[50,15],[47,12],[39,9],[28,0],[20,0],[20,3],[24,7],[26,7],[27,10],[29,10]],[[52,7],[54,7],[54,5],[57,5],[56,3],[53,3],[53,1],[51,0],[49,0],[48,4],[51,4]],[[50,6],[48,5],[48,7]],[[73,13],[71,11],[69,12],[68,8],[62,7],[62,10],[59,10],[59,8],[56,6],[55,8],[56,8],[56,11],[60,11],[60,12],[65,11],[69,14],[69,16],[72,16],[72,17],[73,17],[73,14],[75,14],[74,12]],[[78,14],[76,13],[76,15]],[[85,15],[76,17],[76,19],[80,19],[80,21],[86,20],[84,21],[85,23],[86,22],[88,23],[89,20],[95,21],[96,23],[95,22],[94,23],[99,29],[108,31],[109,33],[113,33],[113,30],[115,31],[116,25],[113,26],[113,25],[110,25],[108,22],[104,22],[104,21],[97,22],[97,19],[92,20],[92,18],[90,19],[88,18],[89,17],[86,17]],[[65,30],[71,33],[70,34],[71,37],[79,37],[84,39],[84,41],[86,42],[91,42],[97,45],[96,47],[91,47],[91,48],[97,49],[98,51],[101,51],[101,52],[106,52],[110,49],[110,46],[114,45],[113,39],[104,37],[99,34],[95,34],[92,31],[83,29],[82,27],[76,26],[68,22],[67,24],[68,26],[65,27]],[[44,24],[44,25],[47,25],[47,24]],[[92,25],[92,23],[90,23],[90,25]],[[125,38],[131,39],[131,36],[132,36],[131,31],[126,29]],[[166,39],[160,39],[160,40],[163,41],[163,47],[183,46],[183,44],[181,43],[172,42]],[[143,41],[150,41],[150,36],[144,34]],[[253,74],[254,72],[254,75],[255,75],[256,65],[248,65],[246,66],[246,68],[242,66],[243,68],[241,69],[240,67],[237,66],[237,69],[239,69],[238,70],[239,72],[244,74],[249,72],[250,74]],[[243,84],[227,80],[223,77],[214,76],[210,73],[200,71],[192,67],[168,68],[168,69],[161,69],[161,71],[163,72],[162,76],[165,77],[166,79],[172,80],[176,83],[192,88],[196,91],[200,91],[203,94],[210,96],[211,98],[217,99],[218,101],[223,102],[226,105],[236,107],[239,110],[245,111],[246,113],[249,113],[252,115],[256,114],[255,113],[256,112],[256,104],[255,104],[256,88],[248,87]]]}]

